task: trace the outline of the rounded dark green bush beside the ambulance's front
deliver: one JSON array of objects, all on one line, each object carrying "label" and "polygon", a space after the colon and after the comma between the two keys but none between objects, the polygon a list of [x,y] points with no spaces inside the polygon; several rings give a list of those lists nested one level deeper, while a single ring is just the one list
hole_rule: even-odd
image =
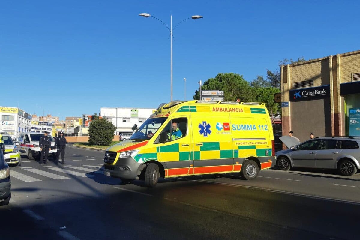
[{"label": "rounded dark green bush beside the ambulance's front", "polygon": [[116,127],[106,118],[97,118],[89,126],[89,142],[92,145],[110,145]]}]

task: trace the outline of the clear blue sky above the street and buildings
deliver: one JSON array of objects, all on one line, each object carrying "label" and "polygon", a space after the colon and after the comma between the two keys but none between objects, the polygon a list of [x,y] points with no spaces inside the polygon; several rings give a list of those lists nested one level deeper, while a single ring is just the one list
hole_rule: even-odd
[{"label": "clear blue sky above the street and buildings", "polygon": [[[359,50],[359,1],[1,1],[0,105],[64,119],[192,99],[199,80],[248,81],[284,58]],[[39,105],[41,107],[39,107]]]}]

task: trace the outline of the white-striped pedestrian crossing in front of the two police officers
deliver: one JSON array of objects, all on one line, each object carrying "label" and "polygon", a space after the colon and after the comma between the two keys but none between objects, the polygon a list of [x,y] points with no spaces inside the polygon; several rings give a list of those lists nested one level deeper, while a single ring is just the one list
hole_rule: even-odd
[{"label": "white-striped pedestrian crossing in front of the two police officers", "polygon": [[95,178],[104,174],[103,164],[84,165],[81,167],[72,165],[40,166],[40,168],[21,167],[15,168],[15,170],[10,169],[10,176],[23,182],[39,182],[46,180],[66,180],[73,177]]}]

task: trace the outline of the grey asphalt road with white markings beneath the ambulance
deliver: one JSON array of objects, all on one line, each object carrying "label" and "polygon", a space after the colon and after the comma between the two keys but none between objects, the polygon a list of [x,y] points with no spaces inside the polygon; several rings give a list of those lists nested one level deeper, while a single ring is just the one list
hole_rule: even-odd
[{"label": "grey asphalt road with white markings beneath the ambulance", "polygon": [[67,165],[22,158],[1,239],[359,239],[360,174],[295,169],[162,179],[105,177],[104,151],[66,148]]}]

